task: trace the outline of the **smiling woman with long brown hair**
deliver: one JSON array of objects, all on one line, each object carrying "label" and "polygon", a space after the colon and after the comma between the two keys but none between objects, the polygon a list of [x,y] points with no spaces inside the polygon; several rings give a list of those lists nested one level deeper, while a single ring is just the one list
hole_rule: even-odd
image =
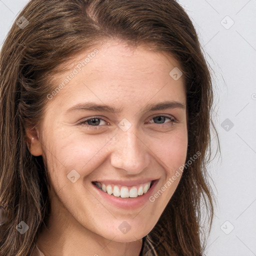
[{"label": "smiling woman with long brown hair", "polygon": [[174,0],[31,0],[0,55],[1,255],[202,255],[212,87]]}]

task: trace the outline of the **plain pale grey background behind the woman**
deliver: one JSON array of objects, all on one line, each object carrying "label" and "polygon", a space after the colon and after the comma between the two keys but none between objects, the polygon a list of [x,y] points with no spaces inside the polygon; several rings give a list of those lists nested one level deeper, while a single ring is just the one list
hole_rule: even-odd
[{"label": "plain pale grey background behind the woman", "polygon": [[[28,0],[0,0],[0,46]],[[205,255],[256,255],[256,0],[179,0],[212,69],[221,145],[209,172],[217,204]],[[228,16],[228,17],[227,17]],[[216,140],[212,139],[215,148]]]}]

